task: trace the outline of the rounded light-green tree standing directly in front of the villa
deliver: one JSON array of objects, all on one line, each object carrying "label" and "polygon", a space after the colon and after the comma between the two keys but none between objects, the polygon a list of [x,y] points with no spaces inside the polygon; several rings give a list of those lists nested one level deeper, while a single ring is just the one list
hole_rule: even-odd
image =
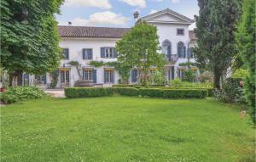
[{"label": "rounded light-green tree standing directly in front of the villa", "polygon": [[132,27],[131,31],[117,42],[116,49],[121,64],[139,70],[143,86],[148,86],[150,83],[150,66],[162,69],[166,63],[165,56],[157,52],[159,49],[157,28],[145,22]]}]

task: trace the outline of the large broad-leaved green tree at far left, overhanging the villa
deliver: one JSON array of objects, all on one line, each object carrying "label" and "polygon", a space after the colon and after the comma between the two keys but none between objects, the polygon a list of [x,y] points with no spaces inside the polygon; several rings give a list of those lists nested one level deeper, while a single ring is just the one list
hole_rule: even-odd
[{"label": "large broad-leaved green tree at far left, overhanging the villa", "polygon": [[62,0],[3,0],[1,9],[1,62],[10,84],[22,74],[41,75],[55,70],[61,59],[55,13]]}]

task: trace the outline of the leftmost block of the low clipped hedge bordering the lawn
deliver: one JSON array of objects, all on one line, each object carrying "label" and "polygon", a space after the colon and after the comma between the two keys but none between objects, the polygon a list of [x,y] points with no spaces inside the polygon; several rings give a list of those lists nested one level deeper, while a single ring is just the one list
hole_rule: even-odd
[{"label": "leftmost block of the low clipped hedge bordering the lawn", "polygon": [[64,89],[67,98],[92,98],[112,96],[113,88],[108,87],[67,87]]}]

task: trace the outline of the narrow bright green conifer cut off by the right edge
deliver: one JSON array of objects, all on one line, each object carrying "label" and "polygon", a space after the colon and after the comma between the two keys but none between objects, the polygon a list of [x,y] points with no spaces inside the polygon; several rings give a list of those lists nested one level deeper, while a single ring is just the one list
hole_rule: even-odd
[{"label": "narrow bright green conifer cut off by the right edge", "polygon": [[251,109],[251,117],[255,126],[255,38],[256,38],[255,1],[244,0],[241,21],[236,33],[239,54],[249,75],[245,80],[247,102]]}]

